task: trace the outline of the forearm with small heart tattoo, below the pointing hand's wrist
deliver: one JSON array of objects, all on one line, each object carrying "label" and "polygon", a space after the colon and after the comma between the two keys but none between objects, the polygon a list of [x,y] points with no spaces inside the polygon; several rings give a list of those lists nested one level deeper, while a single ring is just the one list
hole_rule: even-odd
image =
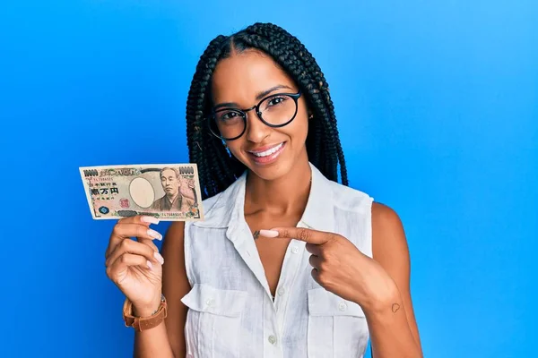
[{"label": "forearm with small heart tattoo, below the pointing hand's wrist", "polygon": [[368,321],[373,358],[421,358],[421,347],[412,335],[400,293],[364,310]]}]

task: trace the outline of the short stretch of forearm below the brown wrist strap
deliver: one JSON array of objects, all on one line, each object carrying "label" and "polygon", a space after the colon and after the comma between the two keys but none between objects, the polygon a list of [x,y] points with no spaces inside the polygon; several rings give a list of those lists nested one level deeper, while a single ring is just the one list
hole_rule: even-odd
[{"label": "short stretch of forearm below the brown wrist strap", "polygon": [[164,321],[157,327],[134,334],[135,358],[184,358],[176,357],[169,343]]}]

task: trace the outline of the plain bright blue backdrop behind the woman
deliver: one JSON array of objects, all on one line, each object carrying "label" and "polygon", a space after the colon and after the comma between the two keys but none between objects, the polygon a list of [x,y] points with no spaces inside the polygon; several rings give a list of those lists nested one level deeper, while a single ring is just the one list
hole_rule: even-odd
[{"label": "plain bright blue backdrop behind the woman", "polygon": [[131,356],[78,167],[187,162],[195,64],[255,21],[316,56],[351,186],[402,217],[425,355],[536,356],[536,2],[180,3],[0,5],[0,356]]}]

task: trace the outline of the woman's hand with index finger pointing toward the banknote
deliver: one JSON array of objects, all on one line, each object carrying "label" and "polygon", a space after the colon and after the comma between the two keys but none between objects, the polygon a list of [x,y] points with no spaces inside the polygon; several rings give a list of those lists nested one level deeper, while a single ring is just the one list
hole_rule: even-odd
[{"label": "woman's hand with index finger pointing toward the banknote", "polygon": [[312,254],[312,277],[317,283],[365,310],[375,310],[397,294],[395,281],[385,268],[342,235],[302,227],[275,227],[260,230],[260,235],[306,242],[306,249]]}]

